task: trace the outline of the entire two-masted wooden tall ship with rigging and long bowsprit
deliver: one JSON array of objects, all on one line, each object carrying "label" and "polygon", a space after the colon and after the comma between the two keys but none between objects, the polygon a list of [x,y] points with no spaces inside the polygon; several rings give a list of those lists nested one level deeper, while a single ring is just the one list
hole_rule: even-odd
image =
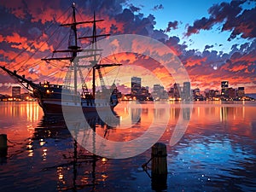
[{"label": "entire two-masted wooden tall ship with rigging and long bowsprit", "polygon": [[[109,86],[104,83],[101,69],[119,67],[121,64],[100,62],[102,49],[99,49],[96,44],[97,38],[107,37],[110,34],[97,34],[96,23],[103,20],[96,20],[95,13],[93,20],[77,21],[75,4],[73,3],[71,7],[72,21],[61,24],[61,27],[70,28],[67,49],[55,49],[50,57],[41,59],[45,62],[68,61],[67,74],[63,84],[50,84],[49,81],[34,83],[17,71],[11,71],[3,66],[1,68],[26,90],[29,90],[34,98],[38,99],[38,104],[43,108],[45,115],[61,114],[63,107],[72,110],[82,108],[84,113],[109,108],[113,110],[119,102],[119,91],[114,82]],[[90,36],[79,37],[78,29],[83,24],[91,25],[92,34]],[[89,46],[87,44],[85,49],[82,48],[79,39],[88,39]],[[67,55],[63,56],[63,54]],[[87,82],[83,74],[85,69],[92,76]],[[101,90],[96,90],[96,78],[100,80]],[[88,88],[89,83],[91,84],[90,89]]]}]

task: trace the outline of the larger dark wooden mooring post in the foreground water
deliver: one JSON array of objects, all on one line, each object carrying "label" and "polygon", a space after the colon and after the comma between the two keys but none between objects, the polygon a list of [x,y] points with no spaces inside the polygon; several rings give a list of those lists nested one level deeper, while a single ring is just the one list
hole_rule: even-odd
[{"label": "larger dark wooden mooring post in the foreground water", "polygon": [[151,186],[155,191],[167,189],[167,153],[166,144],[155,143],[152,148],[152,180]]}]

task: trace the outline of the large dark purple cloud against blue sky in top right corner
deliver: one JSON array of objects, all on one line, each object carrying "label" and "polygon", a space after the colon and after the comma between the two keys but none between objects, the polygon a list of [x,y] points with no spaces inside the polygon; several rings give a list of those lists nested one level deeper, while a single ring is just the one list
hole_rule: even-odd
[{"label": "large dark purple cloud against blue sky in top right corner", "polygon": [[242,10],[241,5],[246,1],[214,4],[208,9],[209,17],[195,20],[193,26],[188,26],[186,36],[198,33],[200,30],[210,30],[217,23],[223,23],[221,31],[230,31],[229,40],[241,35],[241,38],[256,37],[256,8]]}]

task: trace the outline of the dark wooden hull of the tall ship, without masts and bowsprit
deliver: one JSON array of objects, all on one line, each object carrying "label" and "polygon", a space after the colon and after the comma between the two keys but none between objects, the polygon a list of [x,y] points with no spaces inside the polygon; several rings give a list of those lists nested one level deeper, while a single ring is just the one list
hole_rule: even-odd
[{"label": "dark wooden hull of the tall ship, without masts and bowsprit", "polygon": [[43,84],[42,87],[45,89],[35,88],[33,96],[38,99],[38,104],[43,108],[45,115],[73,113],[73,111],[77,112],[81,109],[83,113],[96,113],[113,110],[118,104],[117,95],[114,93],[110,96],[106,94],[107,98],[94,99],[90,94],[85,97],[74,95],[72,90],[63,89],[61,85],[57,84],[47,84],[46,87]]}]

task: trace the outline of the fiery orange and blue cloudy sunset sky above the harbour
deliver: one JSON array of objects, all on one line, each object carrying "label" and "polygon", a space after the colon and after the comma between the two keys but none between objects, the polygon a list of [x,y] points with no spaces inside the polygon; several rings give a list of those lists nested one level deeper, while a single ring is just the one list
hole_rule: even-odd
[{"label": "fiery orange and blue cloudy sunset sky above the harbour", "polygon": [[[61,63],[49,65],[40,58],[58,48],[55,44],[63,39],[67,29],[55,32],[50,27],[68,22],[65,15],[71,13],[72,3],[2,0],[0,65],[35,82],[47,79],[61,83],[65,73],[55,69]],[[143,35],[167,45],[183,63],[192,88],[220,90],[220,82],[229,80],[233,88],[244,86],[246,93],[256,93],[255,1],[77,0],[75,3],[77,20],[91,20],[94,11],[96,19],[104,19],[98,26],[101,32],[112,36]],[[88,26],[81,29],[84,30],[81,35],[89,33]],[[57,35],[51,38],[54,32]],[[129,91],[132,76],[141,76],[143,85],[149,87],[160,79],[166,90],[174,83],[165,68],[150,58],[125,53],[114,57],[125,66],[114,71],[123,77],[116,80],[121,91]],[[6,73],[0,72],[0,93],[10,93],[13,83]]]}]

